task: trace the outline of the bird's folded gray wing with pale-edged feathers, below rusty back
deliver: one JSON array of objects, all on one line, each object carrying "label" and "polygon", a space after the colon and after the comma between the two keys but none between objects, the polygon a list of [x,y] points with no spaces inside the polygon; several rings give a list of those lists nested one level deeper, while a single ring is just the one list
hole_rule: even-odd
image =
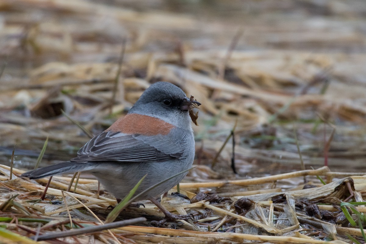
[{"label": "bird's folded gray wing with pale-edged feathers, below rusty back", "polygon": [[184,136],[178,138],[176,132],[164,136],[102,132],[87,142],[71,161],[161,162],[183,154],[184,145],[180,140]]}]

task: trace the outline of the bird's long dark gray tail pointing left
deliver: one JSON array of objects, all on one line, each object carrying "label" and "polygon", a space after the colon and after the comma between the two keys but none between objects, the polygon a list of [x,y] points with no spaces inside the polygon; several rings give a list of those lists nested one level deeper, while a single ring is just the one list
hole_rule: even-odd
[{"label": "bird's long dark gray tail pointing left", "polygon": [[47,176],[52,176],[55,174],[66,174],[74,173],[78,171],[85,171],[96,168],[97,164],[89,162],[60,162],[58,164],[46,166],[39,169],[30,170],[23,173],[22,177],[28,177],[29,179],[38,179]]}]

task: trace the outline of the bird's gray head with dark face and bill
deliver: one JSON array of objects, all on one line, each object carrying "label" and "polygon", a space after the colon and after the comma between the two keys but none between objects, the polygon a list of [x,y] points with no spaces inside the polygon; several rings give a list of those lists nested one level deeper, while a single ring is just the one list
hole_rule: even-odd
[{"label": "bird's gray head with dark face and bill", "polygon": [[176,127],[190,124],[188,110],[191,101],[178,86],[168,82],[156,82],[147,88],[128,113],[138,113],[162,119]]}]

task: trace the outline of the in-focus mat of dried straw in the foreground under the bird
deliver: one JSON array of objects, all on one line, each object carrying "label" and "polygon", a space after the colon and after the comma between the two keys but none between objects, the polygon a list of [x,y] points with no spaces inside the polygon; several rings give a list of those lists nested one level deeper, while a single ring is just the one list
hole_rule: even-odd
[{"label": "in-focus mat of dried straw in the foreground under the bird", "polygon": [[[57,238],[67,241],[69,238],[67,236],[77,233],[72,238],[82,241],[87,238],[88,228],[93,230],[93,238],[110,241],[115,238],[122,242],[147,241],[149,234],[158,234],[148,243],[157,243],[158,240],[175,243],[178,240],[176,238],[191,242],[193,241],[191,237],[198,237],[198,240],[192,243],[200,243],[201,238],[206,237],[215,239],[217,243],[225,241],[242,243],[249,240],[266,240],[273,243],[293,242],[292,240],[296,240],[296,243],[326,243],[325,241],[332,243],[332,240],[337,240],[335,243],[342,243],[340,241],[346,240],[346,233],[352,233],[351,235],[359,240],[362,238],[360,229],[353,227],[347,218],[343,217],[340,221],[341,216],[344,216],[340,204],[350,196],[350,192],[342,185],[349,182],[354,195],[365,192],[365,176],[349,176],[326,185],[318,184],[315,188],[282,189],[281,192],[259,194],[244,191],[245,198],[235,195],[220,197],[221,184],[210,186],[212,191],[216,188],[216,194],[207,194],[201,192],[200,188],[203,185],[205,188],[209,187],[208,184],[181,183],[181,194],[191,199],[169,194],[163,197],[161,203],[172,213],[193,215],[194,220],[166,222],[160,228],[148,227],[151,221],[161,220],[164,214],[154,204],[145,201],[143,203],[145,207],[128,207],[117,217],[117,222],[113,222],[118,225],[118,221],[122,221],[123,224],[124,219],[135,218],[136,220],[131,221],[136,221],[135,224],[140,222],[139,226],[117,228],[113,225],[108,228],[108,225],[102,227],[103,224],[99,224],[98,229],[96,222],[105,221],[111,212],[108,206],[116,204],[116,200],[109,198],[108,195],[98,195],[95,189],[90,187],[97,184],[96,180],[80,178],[78,188],[73,193],[66,192],[69,177],[54,176],[47,190],[48,195],[41,200],[40,195],[45,189],[47,179],[36,181],[22,179],[19,175],[23,171],[13,169],[13,179],[9,180],[10,167],[4,165],[0,167],[0,180],[3,185],[0,196],[0,220],[5,229],[30,239]],[[329,176],[332,172],[323,167],[318,170],[280,174],[273,176],[272,179],[302,178],[302,175],[309,177],[314,174]],[[250,189],[252,184],[268,186],[268,183],[268,177],[260,177],[251,182],[233,180],[224,184],[242,185]],[[187,191],[192,189],[191,184],[197,184],[193,192]],[[283,200],[276,202],[271,200],[278,196]],[[334,199],[332,204],[329,204],[329,199]],[[365,211],[364,207],[355,206],[354,209]],[[348,213],[352,215],[352,212]],[[147,221],[142,217],[147,218]],[[103,232],[103,228],[109,232]],[[170,228],[175,229],[174,232],[171,232]],[[333,228],[335,232],[327,233],[326,228]],[[68,231],[57,232],[60,229]]]}]

